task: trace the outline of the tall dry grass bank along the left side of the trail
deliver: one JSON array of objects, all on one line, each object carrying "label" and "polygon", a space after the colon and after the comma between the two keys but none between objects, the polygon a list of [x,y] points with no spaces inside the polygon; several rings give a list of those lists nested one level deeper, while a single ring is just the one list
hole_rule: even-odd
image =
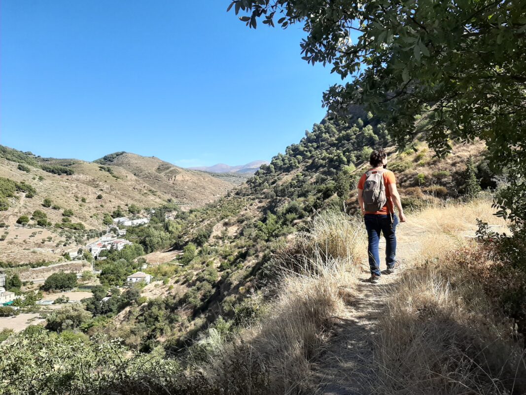
[{"label": "tall dry grass bank along the left side of the trail", "polygon": [[312,393],[310,363],[323,349],[329,318],[345,308],[339,289],[356,279],[363,240],[363,226],[343,213],[313,220],[310,232],[298,234],[292,247],[276,253],[273,270],[279,280],[270,291],[275,295],[272,308],[241,333],[235,346],[221,350],[214,371],[230,374],[229,361],[239,359],[242,350],[242,358],[250,356],[247,366],[258,361],[258,372],[251,374],[267,377],[258,393]]}]

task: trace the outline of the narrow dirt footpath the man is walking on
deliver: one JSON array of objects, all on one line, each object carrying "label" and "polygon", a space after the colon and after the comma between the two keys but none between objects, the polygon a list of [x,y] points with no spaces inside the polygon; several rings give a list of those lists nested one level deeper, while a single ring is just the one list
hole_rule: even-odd
[{"label": "narrow dirt footpath the man is walking on", "polygon": [[[323,395],[366,395],[365,388],[375,377],[373,366],[373,343],[378,318],[383,313],[386,297],[394,291],[400,272],[411,266],[421,250],[422,241],[441,233],[437,223],[409,218],[409,222],[397,228],[397,259],[400,269],[393,274],[385,273],[382,262],[382,277],[379,284],[371,284],[369,264],[363,259],[363,270],[357,284],[349,285],[346,310],[333,319],[332,336],[327,348],[315,365],[313,378],[318,385],[316,394]],[[380,241],[380,258],[385,256],[385,239]],[[343,293],[345,293],[345,288]]]}]

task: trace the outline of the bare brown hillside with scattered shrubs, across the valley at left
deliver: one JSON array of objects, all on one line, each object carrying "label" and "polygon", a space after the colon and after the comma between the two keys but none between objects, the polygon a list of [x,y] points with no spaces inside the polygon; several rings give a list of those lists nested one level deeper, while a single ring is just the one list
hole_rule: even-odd
[{"label": "bare brown hillside with scattered shrubs, across the valley at left", "polygon": [[[0,180],[13,184],[12,192],[0,195],[0,223],[5,227],[0,261],[57,261],[105,230],[104,214],[119,207],[126,212],[131,205],[145,209],[177,202],[189,209],[213,201],[235,185],[134,154],[125,154],[119,163],[123,166],[42,158],[0,146]],[[73,213],[67,218],[80,224],[75,225],[78,230],[36,226],[36,220],[28,227],[16,224],[35,211],[42,211],[48,224],[60,224],[65,210]]]}]

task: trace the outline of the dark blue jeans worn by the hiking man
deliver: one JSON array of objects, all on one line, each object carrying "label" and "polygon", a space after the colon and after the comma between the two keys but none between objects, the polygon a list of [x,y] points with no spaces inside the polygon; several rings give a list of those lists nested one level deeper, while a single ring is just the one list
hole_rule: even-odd
[{"label": "dark blue jeans worn by the hiking man", "polygon": [[380,242],[380,232],[386,238],[386,264],[390,269],[395,265],[396,258],[396,225],[398,225],[398,217],[393,214],[393,221],[391,223],[391,216],[386,214],[365,214],[363,216],[365,221],[365,228],[369,237],[369,246],[367,253],[369,255],[369,266],[371,274],[380,275],[380,253],[378,251],[378,244]]}]

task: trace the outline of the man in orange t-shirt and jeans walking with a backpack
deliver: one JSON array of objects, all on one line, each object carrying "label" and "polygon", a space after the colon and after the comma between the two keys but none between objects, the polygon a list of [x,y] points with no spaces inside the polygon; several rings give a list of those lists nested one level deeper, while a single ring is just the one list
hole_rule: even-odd
[{"label": "man in orange t-shirt and jeans walking with a backpack", "polygon": [[398,209],[400,222],[406,222],[406,216],[403,214],[396,188],[395,173],[386,169],[387,153],[384,150],[373,151],[369,163],[372,168],[365,172],[358,182],[358,202],[369,238],[367,252],[371,268],[370,281],[377,284],[381,276],[378,251],[380,233],[386,238],[386,273],[393,273],[398,265],[395,231],[399,220],[393,203]]}]

